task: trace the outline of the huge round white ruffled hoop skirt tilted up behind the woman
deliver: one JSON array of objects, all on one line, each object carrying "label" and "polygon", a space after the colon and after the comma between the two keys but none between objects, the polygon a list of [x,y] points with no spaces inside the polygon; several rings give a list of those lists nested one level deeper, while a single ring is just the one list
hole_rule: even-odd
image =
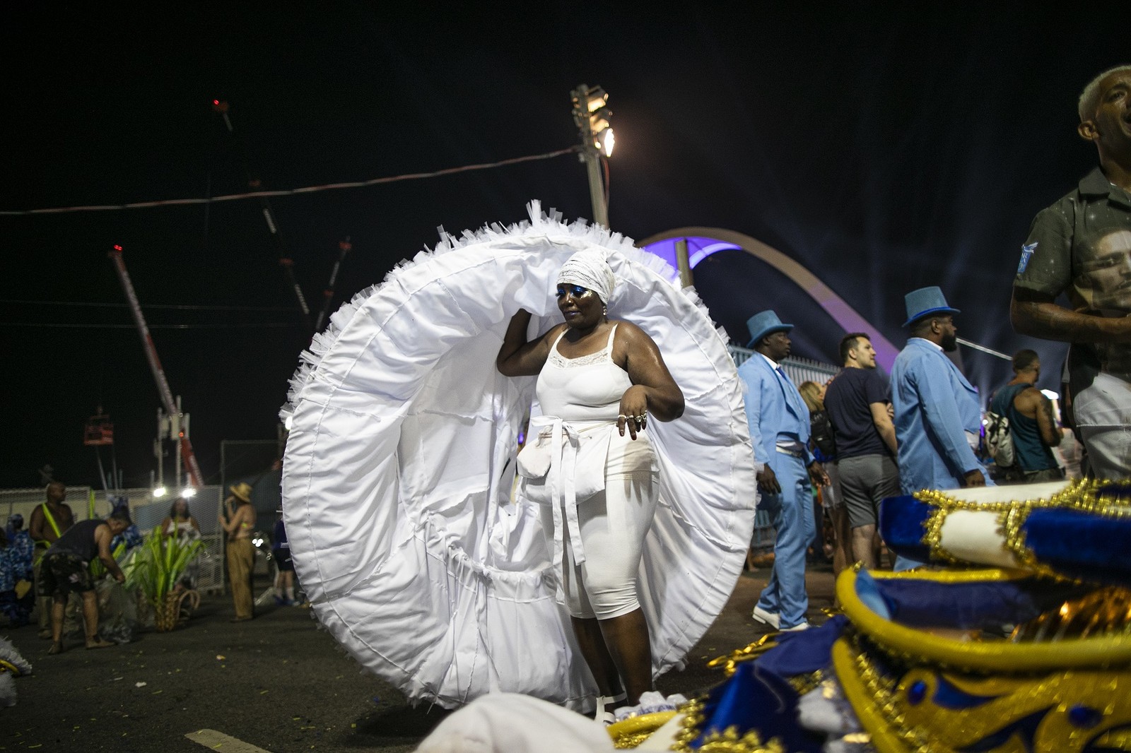
[{"label": "huge round white ruffled hoop skirt tilted up behind the woman", "polygon": [[534,378],[498,373],[511,315],[560,321],[558,269],[604,249],[608,315],[656,340],[687,409],[649,422],[659,501],[639,598],[656,674],[682,666],[726,604],[753,528],[754,468],[726,343],[671,268],[620,235],[532,222],[444,236],[334,314],[292,382],[283,510],[318,620],[412,701],[493,691],[586,708],[537,505],[511,501]]}]

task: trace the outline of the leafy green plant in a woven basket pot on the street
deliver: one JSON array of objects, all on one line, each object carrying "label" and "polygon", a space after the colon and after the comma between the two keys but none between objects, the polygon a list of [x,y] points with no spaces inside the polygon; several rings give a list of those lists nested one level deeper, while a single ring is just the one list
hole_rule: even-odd
[{"label": "leafy green plant in a woven basket pot on the street", "polygon": [[199,538],[165,536],[157,527],[135,552],[126,572],[126,585],[137,588],[153,606],[154,626],[158,632],[176,626],[181,603],[185,598],[193,606],[200,603],[200,595],[179,581],[184,569],[204,548],[205,543]]}]

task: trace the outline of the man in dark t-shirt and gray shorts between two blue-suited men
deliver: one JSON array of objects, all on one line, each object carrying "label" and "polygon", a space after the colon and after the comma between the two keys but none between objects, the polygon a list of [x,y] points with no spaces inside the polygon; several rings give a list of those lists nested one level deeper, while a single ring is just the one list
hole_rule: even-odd
[{"label": "man in dark t-shirt and gray shorts between two blue-suited men", "polygon": [[875,350],[864,332],[840,340],[840,360],[845,367],[824,393],[824,409],[836,432],[840,493],[852,526],[852,556],[872,569],[879,564],[875,526],[880,502],[899,494],[891,388],[875,366]]}]

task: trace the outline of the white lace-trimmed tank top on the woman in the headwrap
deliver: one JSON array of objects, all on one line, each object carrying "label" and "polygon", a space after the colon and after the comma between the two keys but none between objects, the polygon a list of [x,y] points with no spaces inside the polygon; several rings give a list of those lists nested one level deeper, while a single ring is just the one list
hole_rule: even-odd
[{"label": "white lace-trimmed tank top on the woman in the headwrap", "polygon": [[621,397],[632,387],[632,380],[613,363],[615,335],[613,324],[603,349],[577,358],[567,358],[558,352],[566,332],[558,336],[535,387],[542,413],[570,422],[616,421]]}]

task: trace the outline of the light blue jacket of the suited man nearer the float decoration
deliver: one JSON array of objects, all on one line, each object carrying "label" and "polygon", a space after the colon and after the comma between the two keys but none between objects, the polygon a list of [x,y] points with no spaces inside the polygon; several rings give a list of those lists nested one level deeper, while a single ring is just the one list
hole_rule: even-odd
[{"label": "light blue jacket of the suited man nearer the float decoration", "polygon": [[986,475],[965,434],[982,429],[978,393],[933,343],[913,337],[896,356],[891,401],[904,494],[958,488],[975,469]]}]

